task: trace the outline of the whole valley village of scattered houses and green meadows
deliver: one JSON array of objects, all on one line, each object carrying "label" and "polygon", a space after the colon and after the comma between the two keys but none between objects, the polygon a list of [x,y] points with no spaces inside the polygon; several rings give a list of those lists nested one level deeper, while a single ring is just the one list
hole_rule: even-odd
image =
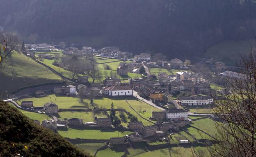
[{"label": "whole valley village of scattered houses and green meadows", "polygon": [[[115,46],[25,48],[25,55],[62,82],[22,88],[8,101],[71,143],[100,143],[93,155],[104,150],[123,155],[137,144],[148,150],[214,144],[211,133],[219,120],[215,101],[232,93],[217,81],[242,76],[213,58],[192,65],[177,58],[158,60],[149,53],[133,55]],[[209,71],[198,70],[202,66]]]}]

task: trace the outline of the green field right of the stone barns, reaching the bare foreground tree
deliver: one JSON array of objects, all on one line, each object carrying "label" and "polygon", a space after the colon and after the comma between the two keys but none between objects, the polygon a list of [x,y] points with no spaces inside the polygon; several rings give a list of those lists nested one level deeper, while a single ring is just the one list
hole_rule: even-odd
[{"label": "green field right of the stone barns, reaching the bare foreground tree", "polygon": [[210,118],[193,121],[190,123],[190,125],[196,128],[199,128],[200,130],[203,130],[204,132],[210,135],[215,135],[216,133],[216,127],[215,127],[216,124]]}]

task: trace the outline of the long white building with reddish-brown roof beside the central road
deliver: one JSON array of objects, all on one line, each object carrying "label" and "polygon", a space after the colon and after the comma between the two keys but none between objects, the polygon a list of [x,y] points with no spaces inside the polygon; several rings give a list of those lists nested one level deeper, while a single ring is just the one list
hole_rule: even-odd
[{"label": "long white building with reddish-brown roof beside the central road", "polygon": [[108,96],[132,96],[133,90],[130,86],[103,87],[102,93]]}]

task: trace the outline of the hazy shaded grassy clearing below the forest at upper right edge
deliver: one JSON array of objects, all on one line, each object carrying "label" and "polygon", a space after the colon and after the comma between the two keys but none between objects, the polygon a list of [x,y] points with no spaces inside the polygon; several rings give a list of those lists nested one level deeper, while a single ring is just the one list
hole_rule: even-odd
[{"label": "hazy shaded grassy clearing below the forest at upper right edge", "polygon": [[224,41],[215,46],[210,47],[205,57],[213,57],[226,65],[236,65],[241,56],[249,53],[251,46],[255,46],[253,40],[247,41]]}]

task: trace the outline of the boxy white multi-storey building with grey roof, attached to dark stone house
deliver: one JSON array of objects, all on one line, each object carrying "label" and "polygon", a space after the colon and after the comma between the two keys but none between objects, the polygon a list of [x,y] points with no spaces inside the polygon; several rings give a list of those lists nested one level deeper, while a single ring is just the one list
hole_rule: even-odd
[{"label": "boxy white multi-storey building with grey roof, attached to dark stone house", "polygon": [[187,120],[188,112],[183,109],[173,109],[165,111],[166,119],[168,121]]}]

